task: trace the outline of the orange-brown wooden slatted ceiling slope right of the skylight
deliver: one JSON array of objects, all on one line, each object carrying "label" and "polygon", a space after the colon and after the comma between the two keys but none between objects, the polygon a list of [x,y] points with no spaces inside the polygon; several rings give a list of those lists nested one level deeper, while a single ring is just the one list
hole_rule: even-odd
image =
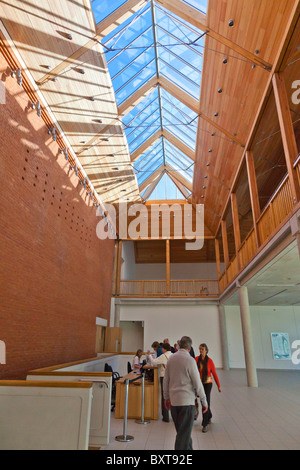
[{"label": "orange-brown wooden slatted ceiling slope right of the skylight", "polygon": [[[282,35],[285,31],[292,3],[283,2],[239,2],[211,0],[208,9],[208,27],[217,30],[243,48],[272,63]],[[260,8],[261,7],[261,8]],[[234,20],[230,28],[228,22]],[[215,51],[215,52],[214,52]],[[234,58],[233,58],[233,57]],[[227,58],[227,63],[223,63]],[[237,52],[229,49],[212,37],[206,37],[206,51],[202,72],[200,109],[241,142],[246,142],[255,119],[258,106],[269,79],[269,71],[247,62]],[[222,89],[222,93],[218,93]],[[218,113],[218,116],[214,114]],[[212,137],[212,133],[215,136]],[[212,150],[209,153],[209,149]],[[193,200],[203,201],[206,224],[215,233],[224,205],[239,167],[244,150],[221,136],[203,119],[199,120],[194,172]],[[224,187],[216,185],[212,178],[204,181],[203,166],[219,178]],[[203,186],[206,186],[205,192]],[[225,189],[225,187],[227,189]],[[216,198],[216,193],[218,197]],[[242,212],[247,210],[242,208]]]}]

